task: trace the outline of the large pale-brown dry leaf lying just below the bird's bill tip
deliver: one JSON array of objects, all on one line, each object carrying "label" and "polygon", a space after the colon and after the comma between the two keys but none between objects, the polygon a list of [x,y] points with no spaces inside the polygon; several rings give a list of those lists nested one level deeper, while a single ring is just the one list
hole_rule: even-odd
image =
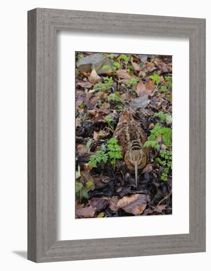
[{"label": "large pale-brown dry leaf lying just below the bird's bill tip", "polygon": [[140,215],[146,208],[147,196],[143,194],[135,194],[126,196],[120,199],[117,203],[119,208],[122,208],[128,213]]}]

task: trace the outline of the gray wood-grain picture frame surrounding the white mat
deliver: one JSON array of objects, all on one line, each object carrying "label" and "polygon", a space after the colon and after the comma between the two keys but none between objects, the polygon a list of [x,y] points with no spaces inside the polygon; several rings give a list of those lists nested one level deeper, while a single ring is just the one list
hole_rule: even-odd
[{"label": "gray wood-grain picture frame surrounding the white mat", "polygon": [[[64,30],[189,37],[189,234],[64,241],[56,239],[56,33]],[[43,8],[30,10],[28,259],[52,262],[204,252],[205,217],[205,19]]]}]

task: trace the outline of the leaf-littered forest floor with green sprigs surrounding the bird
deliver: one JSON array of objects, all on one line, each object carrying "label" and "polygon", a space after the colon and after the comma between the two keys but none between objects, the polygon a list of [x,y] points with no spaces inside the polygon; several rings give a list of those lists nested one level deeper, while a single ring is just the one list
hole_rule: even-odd
[{"label": "leaf-littered forest floor with green sprigs surrounding the bird", "polygon": [[[75,217],[172,214],[172,56],[100,53],[110,65],[77,66],[94,54],[75,55]],[[125,109],[150,147],[138,187],[110,140]]]}]

